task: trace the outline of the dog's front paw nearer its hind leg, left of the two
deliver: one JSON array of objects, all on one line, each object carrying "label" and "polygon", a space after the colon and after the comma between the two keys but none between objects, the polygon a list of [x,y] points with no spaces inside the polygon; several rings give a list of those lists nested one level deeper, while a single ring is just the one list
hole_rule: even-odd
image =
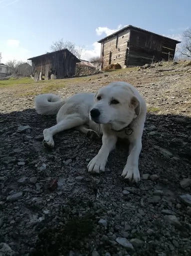
[{"label": "dog's front paw nearer its hind leg, left of the two", "polygon": [[105,171],[106,159],[96,155],[87,165],[88,172],[99,173]]}]

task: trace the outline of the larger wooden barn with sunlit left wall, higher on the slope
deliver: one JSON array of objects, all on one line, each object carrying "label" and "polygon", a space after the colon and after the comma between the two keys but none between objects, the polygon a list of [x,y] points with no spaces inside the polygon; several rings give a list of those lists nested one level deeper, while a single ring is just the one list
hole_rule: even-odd
[{"label": "larger wooden barn with sunlit left wall, higher on the slope", "polygon": [[98,41],[102,68],[119,63],[121,67],[173,59],[179,41],[131,25]]}]

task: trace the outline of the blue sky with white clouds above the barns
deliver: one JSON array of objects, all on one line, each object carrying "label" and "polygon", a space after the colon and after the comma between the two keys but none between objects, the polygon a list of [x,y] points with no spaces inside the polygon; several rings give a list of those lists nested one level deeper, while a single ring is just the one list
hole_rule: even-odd
[{"label": "blue sky with white clouds above the barns", "polygon": [[59,39],[100,56],[98,40],[132,25],[181,40],[191,27],[190,0],[0,0],[1,63],[26,61]]}]

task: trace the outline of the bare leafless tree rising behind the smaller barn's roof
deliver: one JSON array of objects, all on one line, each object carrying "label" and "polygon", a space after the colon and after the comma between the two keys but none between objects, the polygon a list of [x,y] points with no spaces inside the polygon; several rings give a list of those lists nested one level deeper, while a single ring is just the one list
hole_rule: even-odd
[{"label": "bare leafless tree rising behind the smaller barn's roof", "polygon": [[52,45],[50,46],[50,50],[52,52],[63,50],[63,49],[67,49],[73,55],[75,55],[78,59],[81,59],[85,53],[84,46],[76,46],[74,43],[70,41],[64,42],[63,39],[53,42]]}]

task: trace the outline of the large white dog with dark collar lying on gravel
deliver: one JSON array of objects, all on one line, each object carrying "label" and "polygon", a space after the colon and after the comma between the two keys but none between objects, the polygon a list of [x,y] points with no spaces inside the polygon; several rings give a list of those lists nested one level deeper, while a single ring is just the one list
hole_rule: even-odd
[{"label": "large white dog with dark collar lying on gravel", "polygon": [[39,114],[57,114],[57,124],[43,131],[44,147],[54,147],[53,135],[75,128],[87,136],[102,134],[102,146],[87,165],[88,172],[104,172],[117,137],[129,141],[129,155],[122,171],[125,179],[140,180],[138,159],[146,117],[146,104],[139,92],[126,82],[112,82],[95,93],[77,93],[61,100],[53,94],[35,97]]}]

